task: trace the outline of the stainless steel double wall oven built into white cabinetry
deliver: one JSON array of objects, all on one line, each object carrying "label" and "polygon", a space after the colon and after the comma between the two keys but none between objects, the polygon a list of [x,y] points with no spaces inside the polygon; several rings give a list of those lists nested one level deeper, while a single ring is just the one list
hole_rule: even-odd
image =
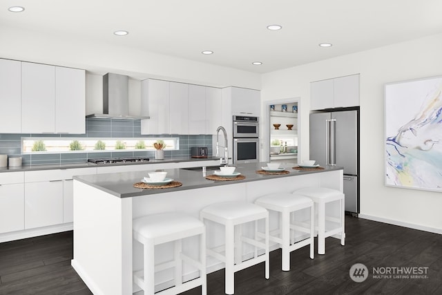
[{"label": "stainless steel double wall oven built into white cabinetry", "polygon": [[259,162],[259,135],[258,117],[233,116],[233,164]]}]

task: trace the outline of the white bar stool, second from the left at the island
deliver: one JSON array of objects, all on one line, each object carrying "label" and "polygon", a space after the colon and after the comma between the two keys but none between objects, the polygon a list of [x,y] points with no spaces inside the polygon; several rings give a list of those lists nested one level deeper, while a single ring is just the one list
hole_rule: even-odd
[{"label": "white bar stool, second from the left at the island", "polygon": [[[200,211],[200,218],[211,220],[225,227],[225,253],[222,255],[214,249],[207,249],[207,254],[225,263],[225,292],[235,292],[234,278],[238,272],[252,265],[265,262],[265,278],[269,278],[269,211],[256,204],[247,202],[221,202],[205,207]],[[264,242],[256,235],[258,220],[265,220]],[[254,238],[242,236],[241,225],[255,222]],[[237,226],[237,227],[236,227]],[[242,261],[242,242],[253,245],[253,258]],[[258,248],[264,249],[264,254],[258,256]]]}]

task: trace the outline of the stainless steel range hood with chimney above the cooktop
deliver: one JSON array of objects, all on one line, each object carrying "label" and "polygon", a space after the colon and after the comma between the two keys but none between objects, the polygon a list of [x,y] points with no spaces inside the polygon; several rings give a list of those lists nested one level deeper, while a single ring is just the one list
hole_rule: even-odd
[{"label": "stainless steel range hood with chimney above the cooktop", "polygon": [[91,118],[140,120],[147,116],[128,115],[129,77],[107,73],[103,76],[103,113],[86,115]]}]

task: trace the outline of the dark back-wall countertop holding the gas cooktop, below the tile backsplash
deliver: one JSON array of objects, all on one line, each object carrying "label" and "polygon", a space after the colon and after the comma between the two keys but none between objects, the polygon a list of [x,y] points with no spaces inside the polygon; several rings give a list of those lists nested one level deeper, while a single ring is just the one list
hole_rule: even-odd
[{"label": "dark back-wall countertop holding the gas cooktop, below the tile backsplash", "polygon": [[87,168],[87,167],[105,167],[105,166],[128,166],[128,165],[148,165],[148,164],[161,164],[161,163],[180,163],[180,162],[200,162],[219,160],[218,157],[208,158],[176,158],[176,159],[164,159],[155,160],[150,159],[149,162],[133,162],[133,163],[115,163],[115,164],[94,164],[90,162],[83,163],[70,163],[70,164],[46,164],[46,165],[23,165],[17,167],[2,167],[1,172],[17,172],[17,171],[37,171],[37,170],[52,170],[52,169],[75,169],[75,168]]}]

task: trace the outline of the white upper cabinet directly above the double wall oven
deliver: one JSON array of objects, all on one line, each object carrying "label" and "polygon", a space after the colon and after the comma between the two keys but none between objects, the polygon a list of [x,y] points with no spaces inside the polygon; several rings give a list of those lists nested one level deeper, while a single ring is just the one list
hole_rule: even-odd
[{"label": "white upper cabinet directly above the double wall oven", "polygon": [[260,116],[261,96],[260,91],[247,88],[228,87],[231,99],[230,115],[256,115]]}]

